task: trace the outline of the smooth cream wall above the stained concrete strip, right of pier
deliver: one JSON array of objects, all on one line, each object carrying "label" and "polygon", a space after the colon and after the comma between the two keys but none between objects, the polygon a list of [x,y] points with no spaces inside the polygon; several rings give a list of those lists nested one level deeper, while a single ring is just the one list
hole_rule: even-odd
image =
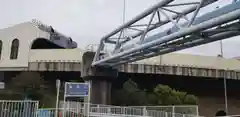
[{"label": "smooth cream wall above the stained concrete strip, right of pier", "polygon": [[149,65],[188,66],[208,69],[240,70],[240,61],[216,56],[200,56],[191,54],[170,53],[156,56],[135,63]]}]

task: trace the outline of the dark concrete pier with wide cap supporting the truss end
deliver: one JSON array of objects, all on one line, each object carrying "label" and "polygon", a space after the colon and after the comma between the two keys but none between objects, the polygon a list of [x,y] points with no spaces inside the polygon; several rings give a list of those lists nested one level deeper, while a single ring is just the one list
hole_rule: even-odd
[{"label": "dark concrete pier with wide cap supporting the truss end", "polygon": [[81,77],[89,82],[90,103],[111,104],[111,85],[118,70],[111,67],[92,66],[95,52],[85,52],[82,57]]}]

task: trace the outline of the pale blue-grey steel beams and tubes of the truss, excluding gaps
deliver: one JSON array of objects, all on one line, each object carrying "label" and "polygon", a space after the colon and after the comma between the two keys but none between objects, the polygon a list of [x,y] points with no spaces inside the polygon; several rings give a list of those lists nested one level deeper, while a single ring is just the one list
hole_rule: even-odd
[{"label": "pale blue-grey steel beams and tubes of the truss, excluding gaps", "polygon": [[[168,3],[172,1],[173,0],[164,0],[163,2],[160,2],[157,5],[154,5],[154,7],[146,10],[142,14],[135,17],[133,20],[127,22],[126,24],[120,26],[113,32],[104,36],[101,39],[100,46],[95,54],[92,65],[115,66],[127,62],[133,62],[161,54],[170,53],[185,48],[198,46],[201,44],[210,43],[216,40],[226,39],[232,36],[239,35],[240,33],[239,29],[237,28],[230,29],[229,27],[232,26],[231,24],[225,26],[229,28],[228,30],[220,30],[222,28],[220,29],[214,28],[221,27],[221,25],[235,21],[240,17],[240,1],[236,2],[235,4],[230,4],[225,7],[215,9],[214,11],[209,12],[200,17],[196,17],[200,8],[206,5],[206,0],[202,0],[200,3],[198,3],[198,6],[194,7],[194,9],[190,8],[186,10],[187,12],[195,11],[193,17],[187,23],[178,25],[177,24],[178,21],[176,22],[174,21],[178,20],[181,17],[181,15],[183,15],[182,14],[183,12],[186,12],[183,11],[180,14],[177,14],[176,16],[168,17],[168,19],[163,22],[161,21],[155,25],[152,25],[151,20],[154,17],[155,13],[160,17],[158,10],[161,9],[161,7],[164,8],[165,6],[167,6]],[[215,0],[209,0],[208,3],[210,4],[213,1]],[[167,31],[165,31],[157,33],[153,36],[141,38],[139,42],[134,44],[135,46],[124,46],[125,45],[124,43],[129,41],[129,39],[126,38],[125,41],[120,42],[118,40],[117,43],[110,40],[112,36],[114,35],[116,36],[116,34],[124,30],[125,28],[130,28],[131,26],[134,26],[133,24],[143,19],[144,17],[149,16],[150,14],[153,14],[152,18],[150,18],[149,21],[150,23],[146,26],[146,28],[143,31],[139,31],[137,35],[131,35],[130,36],[131,38],[134,39],[135,37],[133,36],[144,37],[144,35],[150,30],[158,28],[164,25],[164,23],[167,24],[169,22],[175,24],[174,27],[170,28],[171,33],[167,33]],[[207,36],[203,37],[202,34],[207,34]],[[116,44],[116,48],[112,51],[115,53],[101,58],[100,55],[101,50],[103,50],[105,44],[109,43],[109,41],[113,42],[110,44]]]}]

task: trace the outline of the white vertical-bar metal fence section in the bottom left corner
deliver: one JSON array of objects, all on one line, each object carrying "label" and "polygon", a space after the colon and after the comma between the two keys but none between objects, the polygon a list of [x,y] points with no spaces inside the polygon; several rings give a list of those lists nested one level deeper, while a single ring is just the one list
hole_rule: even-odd
[{"label": "white vertical-bar metal fence section in the bottom left corner", "polygon": [[37,117],[38,101],[0,100],[0,117]]}]

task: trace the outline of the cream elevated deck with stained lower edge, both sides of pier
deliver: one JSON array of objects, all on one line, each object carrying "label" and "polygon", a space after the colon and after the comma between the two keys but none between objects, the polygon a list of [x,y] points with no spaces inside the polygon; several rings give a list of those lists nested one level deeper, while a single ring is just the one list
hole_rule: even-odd
[{"label": "cream elevated deck with stained lower edge, both sides of pier", "polygon": [[[31,50],[30,71],[80,71],[81,49]],[[47,56],[44,56],[47,55]],[[120,72],[240,79],[240,61],[190,54],[166,54],[125,64]]]}]

